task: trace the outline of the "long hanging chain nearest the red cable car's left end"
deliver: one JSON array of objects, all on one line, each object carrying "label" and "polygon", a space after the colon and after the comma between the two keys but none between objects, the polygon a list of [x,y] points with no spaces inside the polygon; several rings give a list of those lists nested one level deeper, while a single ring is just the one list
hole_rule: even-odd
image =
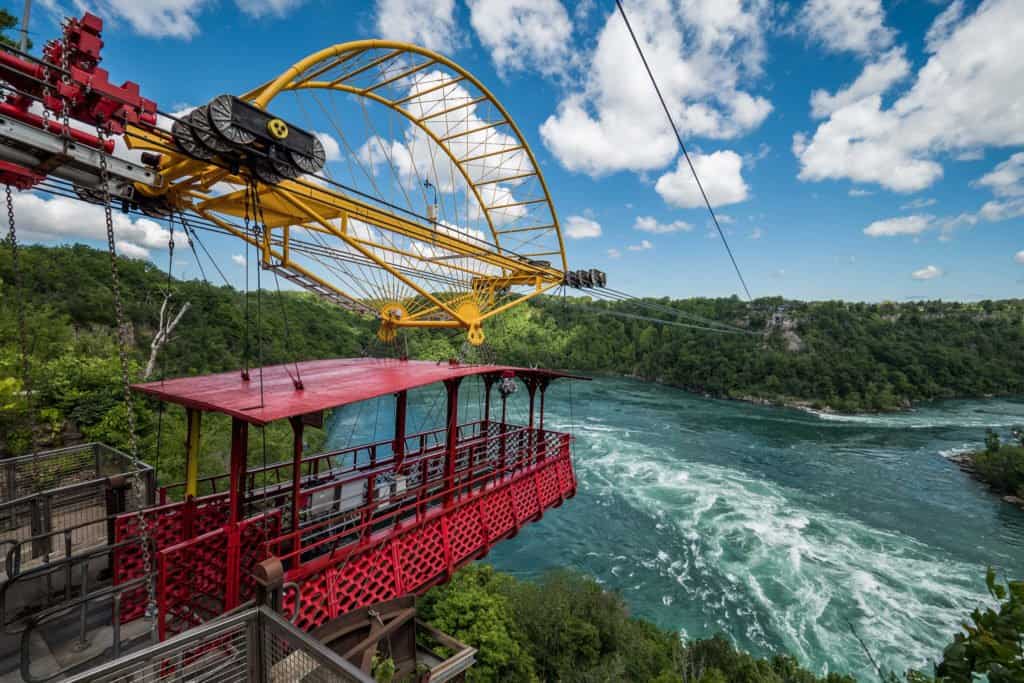
[{"label": "long hanging chain nearest the red cable car's left end", "polygon": [[[114,292],[114,309],[117,315],[118,325],[118,353],[121,357],[121,383],[124,387],[125,411],[128,415],[128,438],[131,443],[131,457],[138,458],[138,434],[135,433],[135,404],[132,400],[131,388],[129,386],[128,368],[128,339],[125,334],[125,312],[124,304],[121,300],[121,278],[118,273],[118,253],[114,240],[114,212],[111,209],[111,187],[109,184],[110,174],[106,170],[106,135],[102,125],[96,126],[96,137],[99,138],[99,181],[100,191],[103,196],[103,217],[106,221],[106,250],[111,256],[111,289]],[[173,227],[171,234],[173,236]],[[173,239],[173,237],[172,237]],[[145,518],[142,509],[137,511],[136,519],[139,528],[139,545],[142,552],[142,570],[146,577],[146,604],[145,615],[153,620],[152,629],[157,628],[157,595],[156,586],[153,581],[153,556],[150,545],[152,537],[150,535],[150,522]]]}]

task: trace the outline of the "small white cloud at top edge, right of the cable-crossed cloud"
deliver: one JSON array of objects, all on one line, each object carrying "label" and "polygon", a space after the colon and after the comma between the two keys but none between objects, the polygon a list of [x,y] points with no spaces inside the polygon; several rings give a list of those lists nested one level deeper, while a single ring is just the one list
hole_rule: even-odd
[{"label": "small white cloud at top edge, right of the cable-crossed cloud", "polygon": [[801,27],[834,52],[869,54],[892,44],[881,0],[809,0]]}]

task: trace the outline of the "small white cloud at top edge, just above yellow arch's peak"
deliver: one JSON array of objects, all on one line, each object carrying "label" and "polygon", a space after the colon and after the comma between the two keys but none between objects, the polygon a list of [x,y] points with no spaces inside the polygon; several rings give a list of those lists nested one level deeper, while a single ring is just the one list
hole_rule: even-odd
[{"label": "small white cloud at top edge, just above yellow arch's peak", "polygon": [[377,0],[377,32],[435,51],[461,42],[455,24],[455,0]]}]

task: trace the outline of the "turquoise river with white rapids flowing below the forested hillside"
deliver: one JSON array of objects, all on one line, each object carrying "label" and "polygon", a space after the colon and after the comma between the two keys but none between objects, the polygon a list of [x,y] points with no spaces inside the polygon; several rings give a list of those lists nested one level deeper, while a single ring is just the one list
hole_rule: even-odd
[{"label": "turquoise river with white rapids flowing below the forested hillside", "polygon": [[[437,422],[436,399],[411,420]],[[887,669],[927,666],[987,601],[986,565],[1024,577],[1024,512],[947,459],[1024,423],[1024,401],[821,416],[597,379],[556,383],[546,413],[577,435],[579,494],[486,561],[574,567],[686,637],[870,680],[854,631]],[[338,415],[332,444],[382,421]]]}]

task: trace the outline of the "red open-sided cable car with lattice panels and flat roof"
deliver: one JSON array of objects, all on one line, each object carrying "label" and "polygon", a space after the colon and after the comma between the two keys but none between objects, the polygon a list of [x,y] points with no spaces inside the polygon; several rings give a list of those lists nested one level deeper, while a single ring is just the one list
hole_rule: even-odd
[{"label": "red open-sided cable car with lattice panels and flat roof", "polygon": [[[482,419],[463,422],[459,386],[470,377],[482,380]],[[571,435],[544,428],[545,392],[560,378],[584,379],[454,360],[354,358],[133,385],[186,410],[186,481],[163,487],[161,505],[116,520],[115,584],[143,577],[147,562],[157,571],[152,591],[125,592],[121,621],[155,602],[161,638],[204,623],[250,600],[253,570],[268,558],[284,571],[286,614],[307,631],[446,581],[575,495]],[[525,425],[505,421],[517,381],[529,396]],[[436,383],[445,388],[446,426],[407,433],[409,390]],[[501,420],[490,417],[496,385]],[[303,453],[304,426],[322,425],[325,411],[389,394],[393,438]],[[230,416],[231,455],[229,472],[201,480],[204,413]],[[250,425],[276,420],[291,423],[291,461],[251,468]],[[201,481],[216,493],[200,496]],[[168,503],[181,486],[183,500]],[[123,543],[133,538],[138,545]]]}]

